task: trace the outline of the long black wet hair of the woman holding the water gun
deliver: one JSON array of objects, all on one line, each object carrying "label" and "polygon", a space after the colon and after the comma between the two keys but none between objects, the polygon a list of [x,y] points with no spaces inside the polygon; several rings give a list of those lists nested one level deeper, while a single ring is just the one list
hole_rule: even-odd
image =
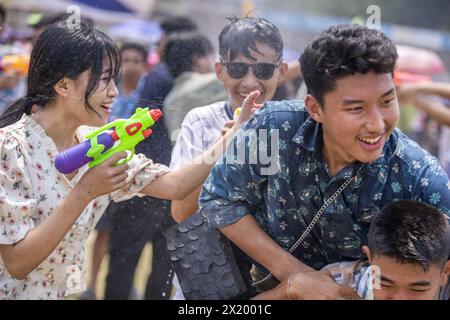
[{"label": "long black wet hair of the woman holding the water gun", "polygon": [[27,94],[6,109],[0,118],[0,128],[17,122],[24,113],[31,114],[34,104],[44,108],[55,98],[54,86],[62,78],[76,79],[88,70],[85,107],[95,112],[88,99],[98,88],[105,57],[111,66],[108,75],[111,81],[120,69],[119,49],[111,38],[84,18],[79,26],[66,20],[48,26],[31,52]]}]

